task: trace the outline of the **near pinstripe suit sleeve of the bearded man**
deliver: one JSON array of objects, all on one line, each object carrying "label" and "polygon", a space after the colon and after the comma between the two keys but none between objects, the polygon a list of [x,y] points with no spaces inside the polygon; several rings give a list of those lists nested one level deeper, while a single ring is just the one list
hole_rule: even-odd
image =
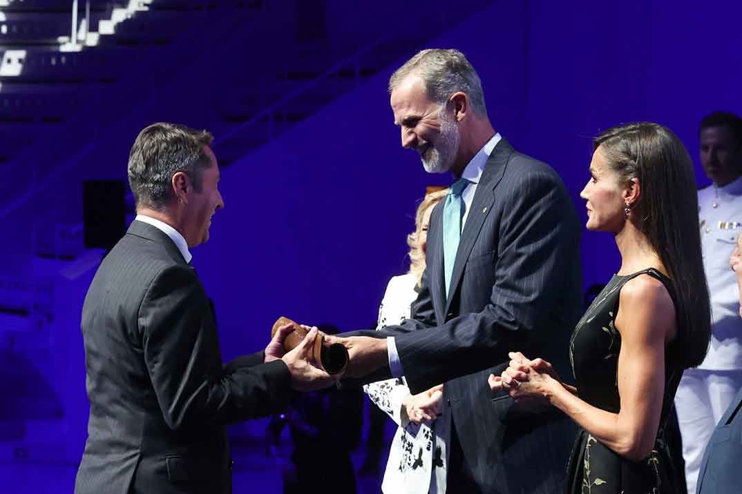
[{"label": "near pinstripe suit sleeve of the bearded man", "polygon": [[493,264],[482,267],[493,270],[483,310],[421,331],[387,328],[397,333],[411,393],[507,361],[509,351],[528,350],[541,338],[537,330],[554,323],[549,317],[559,300],[556,284],[574,278],[571,260],[580,248],[577,215],[556,174],[524,170],[511,181],[497,190],[497,200],[505,204],[499,224],[480,233],[498,236]]}]

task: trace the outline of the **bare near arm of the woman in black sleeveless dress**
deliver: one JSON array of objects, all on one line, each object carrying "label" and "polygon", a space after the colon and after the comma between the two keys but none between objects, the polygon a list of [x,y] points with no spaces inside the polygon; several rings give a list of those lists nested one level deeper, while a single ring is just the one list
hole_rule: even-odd
[{"label": "bare near arm of the woman in black sleeveless dress", "polygon": [[[619,413],[593,407],[548,373],[531,370],[510,387],[513,398],[543,396],[598,441],[632,461],[646,458],[660,425],[665,389],[665,348],[676,331],[675,311],[666,288],[639,276],[620,293],[615,322],[621,335],[618,357]],[[510,381],[505,377],[505,381]],[[491,384],[491,376],[490,376]]]}]

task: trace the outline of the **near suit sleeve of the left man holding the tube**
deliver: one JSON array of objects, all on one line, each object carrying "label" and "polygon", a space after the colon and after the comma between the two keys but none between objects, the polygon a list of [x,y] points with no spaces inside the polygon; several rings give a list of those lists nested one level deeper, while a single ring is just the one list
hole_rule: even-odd
[{"label": "near suit sleeve of the left man holding the tube", "polygon": [[283,410],[291,375],[283,361],[260,364],[260,353],[222,370],[209,302],[188,267],[154,277],[139,308],[145,364],[171,429],[196,421],[229,423]]}]

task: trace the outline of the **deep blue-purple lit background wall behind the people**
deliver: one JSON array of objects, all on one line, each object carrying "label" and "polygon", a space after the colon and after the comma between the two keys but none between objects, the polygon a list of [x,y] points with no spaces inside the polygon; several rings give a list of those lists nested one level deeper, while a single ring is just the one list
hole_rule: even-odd
[{"label": "deep blue-purple lit background wall behind the people", "polygon": [[[700,118],[717,109],[742,112],[739,13],[732,1],[499,1],[424,46],[394,47],[393,67],[223,167],[226,208],[214,216],[211,240],[194,250],[194,264],[216,304],[224,357],[260,350],[280,315],[332,322],[341,330],[374,324],[387,280],[407,269],[404,238],[413,227],[416,200],[426,185],[450,180],[424,173],[416,154],[401,149],[392,123],[388,76],[417,50],[462,50],[482,78],[496,130],[554,166],[585,218],[579,193],[588,177],[591,138],[600,130],[658,121],[680,136],[697,161]],[[230,56],[243,77],[259,70],[239,54]],[[198,73],[208,58],[201,54],[197,63],[178,66],[181,75]],[[81,156],[65,161],[69,166],[50,178],[50,187],[0,217],[6,238],[0,270],[54,281],[56,343],[51,351],[27,356],[55,391],[63,418],[27,421],[31,432],[19,440],[48,444],[53,438],[59,451],[50,457],[78,461],[85,440],[79,309],[93,270],[72,281],[59,276],[64,263],[30,255],[33,228],[47,216],[53,218],[49,224],[80,221],[82,180],[124,178],[128,147],[145,124],[209,127],[210,105],[193,92],[201,81],[185,79],[159,81],[158,90],[143,92],[136,106],[104,119],[89,147],[76,148]],[[214,150],[219,158],[218,144]],[[4,173],[13,180],[23,170],[6,167]],[[697,180],[708,182],[700,167]],[[607,235],[584,233],[582,259],[585,286],[605,282],[618,268]]]}]

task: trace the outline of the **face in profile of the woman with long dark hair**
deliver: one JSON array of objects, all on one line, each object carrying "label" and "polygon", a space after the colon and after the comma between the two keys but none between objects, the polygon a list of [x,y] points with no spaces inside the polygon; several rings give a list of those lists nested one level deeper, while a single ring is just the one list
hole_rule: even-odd
[{"label": "face in profile of the woman with long dark hair", "polygon": [[580,193],[580,197],[587,201],[588,222],[585,227],[592,231],[618,233],[626,221],[624,191],[618,173],[611,170],[602,146],[598,147],[590,162],[590,180]]}]

